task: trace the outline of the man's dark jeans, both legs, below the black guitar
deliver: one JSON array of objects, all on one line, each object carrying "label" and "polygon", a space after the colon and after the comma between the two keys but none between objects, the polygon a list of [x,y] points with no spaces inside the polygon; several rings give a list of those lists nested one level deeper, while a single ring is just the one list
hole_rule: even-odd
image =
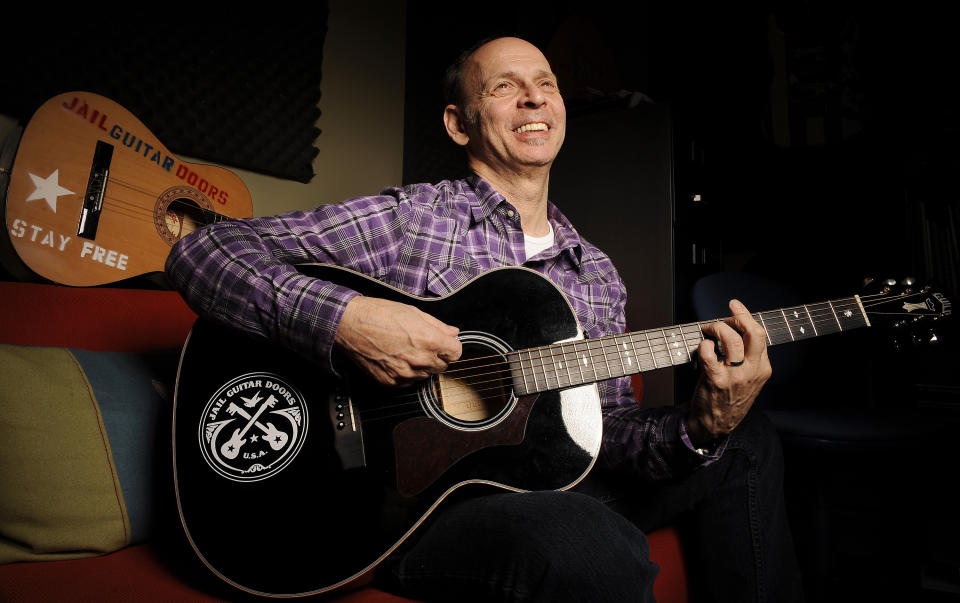
[{"label": "man's dark jeans, both legs, below the black guitar", "polygon": [[695,601],[799,601],[782,475],[776,432],[751,411],[719,461],[676,483],[594,471],[572,492],[441,507],[379,576],[427,601],[653,601],[644,532],[674,524]]}]

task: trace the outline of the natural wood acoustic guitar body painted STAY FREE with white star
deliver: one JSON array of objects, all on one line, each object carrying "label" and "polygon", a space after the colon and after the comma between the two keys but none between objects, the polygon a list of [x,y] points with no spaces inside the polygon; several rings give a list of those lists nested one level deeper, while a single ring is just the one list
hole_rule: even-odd
[{"label": "natural wood acoustic guitar body painted STAY FREE with white star", "polygon": [[30,119],[5,206],[23,264],[75,286],[162,271],[188,232],[253,214],[236,174],[175,157],[133,114],[89,92],[56,96]]}]

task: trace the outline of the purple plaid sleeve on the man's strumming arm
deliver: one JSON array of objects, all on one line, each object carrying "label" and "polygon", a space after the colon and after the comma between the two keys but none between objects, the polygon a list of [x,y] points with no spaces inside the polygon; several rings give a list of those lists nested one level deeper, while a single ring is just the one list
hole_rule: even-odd
[{"label": "purple plaid sleeve on the man's strumming arm", "polygon": [[201,316],[279,341],[333,373],[333,340],[357,292],[301,274],[328,263],[376,275],[406,228],[401,198],[231,220],[191,233],[167,258],[171,284]]}]

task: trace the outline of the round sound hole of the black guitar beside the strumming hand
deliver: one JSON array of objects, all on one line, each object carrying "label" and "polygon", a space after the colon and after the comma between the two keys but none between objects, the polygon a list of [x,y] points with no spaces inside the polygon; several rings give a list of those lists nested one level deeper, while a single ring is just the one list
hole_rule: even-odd
[{"label": "round sound hole of the black guitar beside the strumming hand", "polygon": [[460,340],[460,360],[431,380],[430,414],[463,428],[495,424],[516,401],[506,345],[478,333],[461,333]]}]

